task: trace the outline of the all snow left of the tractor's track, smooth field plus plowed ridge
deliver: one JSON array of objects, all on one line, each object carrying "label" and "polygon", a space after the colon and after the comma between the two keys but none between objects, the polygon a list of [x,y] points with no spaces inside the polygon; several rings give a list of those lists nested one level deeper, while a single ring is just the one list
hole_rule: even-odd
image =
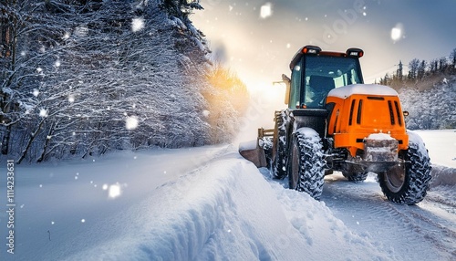
[{"label": "all snow left of the tractor's track, smooth field plus plowed ridge", "polygon": [[[233,146],[17,172],[17,260],[399,259],[326,204],[262,175]],[[103,184],[122,191],[109,197]]]}]

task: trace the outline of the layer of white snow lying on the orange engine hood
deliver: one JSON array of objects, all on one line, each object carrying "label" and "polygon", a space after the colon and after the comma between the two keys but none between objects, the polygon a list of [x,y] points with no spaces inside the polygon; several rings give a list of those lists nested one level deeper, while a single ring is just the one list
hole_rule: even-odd
[{"label": "layer of white snow lying on the orange engine hood", "polygon": [[398,96],[398,92],[388,86],[378,84],[352,84],[331,89],[327,96],[346,99],[353,94]]}]

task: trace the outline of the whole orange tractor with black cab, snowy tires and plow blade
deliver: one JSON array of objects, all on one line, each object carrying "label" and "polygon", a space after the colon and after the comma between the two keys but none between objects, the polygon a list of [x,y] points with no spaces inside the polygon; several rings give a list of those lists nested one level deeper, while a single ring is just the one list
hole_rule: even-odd
[{"label": "whole orange tractor with black cab, snowy tires and plow blade", "polygon": [[275,178],[288,178],[290,189],[316,199],[327,174],[338,171],[360,182],[375,172],[390,201],[417,204],[429,188],[428,151],[406,130],[398,93],[363,84],[363,54],[359,48],[299,49],[291,78],[283,75],[288,108],[275,112],[274,130],[258,131],[256,148],[240,152],[258,167],[270,166]]}]

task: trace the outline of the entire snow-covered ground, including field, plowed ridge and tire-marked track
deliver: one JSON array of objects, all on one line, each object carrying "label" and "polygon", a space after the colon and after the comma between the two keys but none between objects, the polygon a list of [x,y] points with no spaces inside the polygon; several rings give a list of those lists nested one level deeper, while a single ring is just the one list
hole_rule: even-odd
[{"label": "entire snow-covered ground, including field, plowed ridge and tire-marked track", "polygon": [[[15,172],[15,254],[3,244],[1,260],[456,257],[455,190],[443,180],[408,206],[386,201],[373,174],[348,183],[336,173],[317,202],[233,145],[123,151]],[[0,213],[2,235],[6,221]]]}]

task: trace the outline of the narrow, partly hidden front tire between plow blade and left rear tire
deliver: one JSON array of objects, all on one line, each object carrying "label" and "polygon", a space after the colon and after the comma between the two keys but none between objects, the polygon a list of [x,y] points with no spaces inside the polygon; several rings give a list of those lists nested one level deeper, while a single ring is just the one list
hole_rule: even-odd
[{"label": "narrow, partly hidden front tire between plow blade and left rear tire", "polygon": [[275,131],[277,140],[274,142],[274,159],[272,163],[273,177],[283,179],[286,176],[286,130],[285,130],[285,112],[275,115]]}]

